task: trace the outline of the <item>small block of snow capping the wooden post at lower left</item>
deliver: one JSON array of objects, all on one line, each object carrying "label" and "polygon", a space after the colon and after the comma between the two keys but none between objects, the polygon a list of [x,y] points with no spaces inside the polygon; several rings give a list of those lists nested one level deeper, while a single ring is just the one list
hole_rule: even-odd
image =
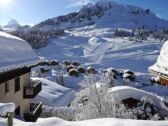
[{"label": "small block of snow capping the wooden post at lower left", "polygon": [[8,112],[15,111],[14,103],[0,103],[0,116],[6,116]]}]

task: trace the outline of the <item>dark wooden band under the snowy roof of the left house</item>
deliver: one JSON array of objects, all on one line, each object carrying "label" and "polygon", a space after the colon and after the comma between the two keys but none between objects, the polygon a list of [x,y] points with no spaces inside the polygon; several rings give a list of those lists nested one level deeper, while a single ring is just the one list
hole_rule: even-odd
[{"label": "dark wooden band under the snowy roof of the left house", "polygon": [[24,75],[26,73],[29,73],[30,71],[31,71],[31,68],[24,67],[24,68],[20,68],[20,69],[11,70],[11,71],[8,71],[8,72],[0,73],[0,84],[6,82],[8,80],[17,78],[17,77],[19,77],[21,75]]}]

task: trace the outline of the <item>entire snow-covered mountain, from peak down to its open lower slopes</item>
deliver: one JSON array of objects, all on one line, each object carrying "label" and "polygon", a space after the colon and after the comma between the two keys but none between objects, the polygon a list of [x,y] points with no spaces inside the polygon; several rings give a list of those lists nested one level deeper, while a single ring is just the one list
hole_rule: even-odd
[{"label": "entire snow-covered mountain, from peak down to its open lower slopes", "polygon": [[168,28],[168,21],[149,9],[101,0],[83,6],[78,12],[45,20],[30,28],[30,32],[23,29],[14,35],[27,39],[39,55],[48,59],[78,60],[97,68],[112,66],[147,72],[160,52],[161,33],[144,32],[149,39],[116,37],[116,28],[130,35],[133,28],[142,28],[141,35],[145,28]]}]

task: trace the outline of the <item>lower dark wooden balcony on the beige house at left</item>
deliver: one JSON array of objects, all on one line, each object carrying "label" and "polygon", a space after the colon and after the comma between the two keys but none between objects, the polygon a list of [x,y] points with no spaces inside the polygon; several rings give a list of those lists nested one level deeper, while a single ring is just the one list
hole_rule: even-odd
[{"label": "lower dark wooden balcony on the beige house at left", "polygon": [[35,122],[42,112],[42,103],[30,103],[30,111],[24,113],[24,119],[27,122]]}]

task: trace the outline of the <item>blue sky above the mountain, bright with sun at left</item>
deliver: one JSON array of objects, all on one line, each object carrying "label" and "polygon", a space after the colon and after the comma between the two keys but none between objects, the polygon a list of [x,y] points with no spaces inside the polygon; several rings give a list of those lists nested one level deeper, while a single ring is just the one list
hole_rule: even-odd
[{"label": "blue sky above the mountain, bright with sun at left", "polygon": [[[6,2],[7,1],[7,2]],[[0,25],[16,19],[21,24],[37,24],[45,19],[68,14],[98,0],[0,0]],[[168,0],[112,0],[151,9],[168,20]]]}]

